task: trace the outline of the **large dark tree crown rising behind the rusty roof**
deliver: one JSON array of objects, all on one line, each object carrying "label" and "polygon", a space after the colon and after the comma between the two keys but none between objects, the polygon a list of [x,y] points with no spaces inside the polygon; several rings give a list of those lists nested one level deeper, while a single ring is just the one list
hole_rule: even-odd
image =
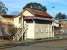
[{"label": "large dark tree crown rising behind the rusty roof", "polygon": [[38,9],[41,11],[47,10],[47,8],[43,5],[41,5],[40,3],[28,3],[28,4],[26,4],[26,6],[24,6],[23,9],[25,9],[25,8],[33,8],[33,9]]}]

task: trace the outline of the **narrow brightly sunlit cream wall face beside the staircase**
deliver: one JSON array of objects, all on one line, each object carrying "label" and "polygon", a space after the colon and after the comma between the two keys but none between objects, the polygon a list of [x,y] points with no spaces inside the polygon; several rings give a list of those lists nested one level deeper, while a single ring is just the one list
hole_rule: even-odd
[{"label": "narrow brightly sunlit cream wall face beside the staircase", "polygon": [[27,23],[26,39],[34,39],[34,23]]}]

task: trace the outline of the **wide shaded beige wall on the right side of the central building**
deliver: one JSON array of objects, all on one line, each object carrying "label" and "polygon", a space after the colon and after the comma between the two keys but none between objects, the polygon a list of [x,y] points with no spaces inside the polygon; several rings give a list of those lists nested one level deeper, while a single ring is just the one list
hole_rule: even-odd
[{"label": "wide shaded beige wall on the right side of the central building", "polygon": [[35,24],[35,39],[54,37],[50,24]]}]

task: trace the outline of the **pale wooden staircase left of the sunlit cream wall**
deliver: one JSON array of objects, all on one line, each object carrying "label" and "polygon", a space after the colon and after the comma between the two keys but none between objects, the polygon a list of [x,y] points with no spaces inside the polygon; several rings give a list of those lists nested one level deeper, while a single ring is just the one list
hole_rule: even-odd
[{"label": "pale wooden staircase left of the sunlit cream wall", "polygon": [[19,41],[20,38],[24,38],[25,33],[27,31],[27,26],[25,25],[24,28],[17,28],[17,33],[13,36],[13,40]]}]

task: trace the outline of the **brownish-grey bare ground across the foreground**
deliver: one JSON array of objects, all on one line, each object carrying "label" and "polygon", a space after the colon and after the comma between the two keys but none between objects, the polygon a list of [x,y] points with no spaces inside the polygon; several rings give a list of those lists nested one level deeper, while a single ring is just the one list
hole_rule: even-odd
[{"label": "brownish-grey bare ground across the foreground", "polygon": [[26,43],[25,45],[7,47],[1,50],[67,50],[67,40]]}]

